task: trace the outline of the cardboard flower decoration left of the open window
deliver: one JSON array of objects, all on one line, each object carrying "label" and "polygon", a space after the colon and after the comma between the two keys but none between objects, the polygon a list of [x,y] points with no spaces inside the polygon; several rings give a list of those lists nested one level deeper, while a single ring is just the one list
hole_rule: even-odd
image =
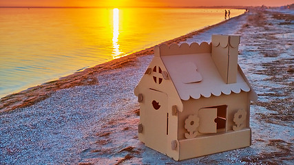
[{"label": "cardboard flower decoration left of the open window", "polygon": [[189,115],[189,117],[185,120],[185,129],[187,129],[189,133],[185,133],[185,137],[187,139],[196,137],[198,133],[198,126],[199,118],[196,115]]}]

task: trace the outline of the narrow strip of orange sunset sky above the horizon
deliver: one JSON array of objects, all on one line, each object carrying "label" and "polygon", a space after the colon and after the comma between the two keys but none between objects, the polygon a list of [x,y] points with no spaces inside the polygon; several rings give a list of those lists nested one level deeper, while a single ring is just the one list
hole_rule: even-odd
[{"label": "narrow strip of orange sunset sky above the horizon", "polygon": [[65,7],[128,7],[128,6],[220,6],[266,5],[280,6],[293,0],[1,0],[0,6],[65,6]]}]

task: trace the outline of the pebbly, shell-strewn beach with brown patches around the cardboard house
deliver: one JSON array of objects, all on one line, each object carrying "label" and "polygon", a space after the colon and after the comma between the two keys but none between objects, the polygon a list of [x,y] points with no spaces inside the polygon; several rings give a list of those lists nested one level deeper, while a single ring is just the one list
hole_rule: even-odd
[{"label": "pebbly, shell-strewn beach with brown patches around the cardboard house", "polygon": [[293,10],[250,12],[167,41],[241,36],[238,63],[259,100],[251,104],[252,145],[182,162],[139,142],[134,87],[153,47],[0,100],[0,164],[292,164]]}]

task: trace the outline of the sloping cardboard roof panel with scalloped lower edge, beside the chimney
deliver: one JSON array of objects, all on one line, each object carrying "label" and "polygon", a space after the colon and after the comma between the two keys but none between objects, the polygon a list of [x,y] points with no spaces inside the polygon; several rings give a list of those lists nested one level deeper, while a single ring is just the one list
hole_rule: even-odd
[{"label": "sloping cardboard roof panel with scalloped lower edge, beside the chimney", "polygon": [[[182,100],[201,96],[229,95],[250,91],[251,87],[238,67],[237,83],[226,84],[213,63],[211,53],[161,56],[167,72]],[[251,99],[251,100],[254,100]]]}]

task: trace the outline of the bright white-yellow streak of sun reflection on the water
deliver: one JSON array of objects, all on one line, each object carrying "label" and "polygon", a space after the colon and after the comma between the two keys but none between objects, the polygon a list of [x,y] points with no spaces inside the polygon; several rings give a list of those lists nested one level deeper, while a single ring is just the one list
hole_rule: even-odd
[{"label": "bright white-yellow streak of sun reflection on the water", "polygon": [[113,51],[112,51],[112,58],[120,58],[124,56],[125,54],[123,52],[120,52],[119,50],[119,44],[118,44],[118,34],[119,34],[119,17],[118,17],[118,8],[114,8],[114,32],[113,32],[113,38],[112,38],[112,45],[113,45]]}]

